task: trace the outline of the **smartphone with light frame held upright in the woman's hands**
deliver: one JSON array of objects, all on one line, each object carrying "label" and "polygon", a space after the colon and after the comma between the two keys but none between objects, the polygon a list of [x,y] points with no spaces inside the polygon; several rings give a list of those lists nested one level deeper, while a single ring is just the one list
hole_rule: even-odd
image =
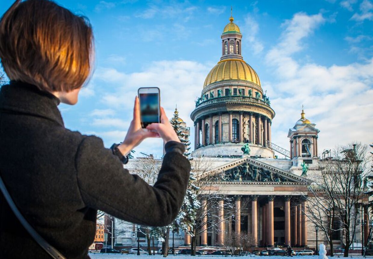
[{"label": "smartphone with light frame held upright in the woman's hands", "polygon": [[141,127],[160,122],[160,91],[158,87],[141,87],[138,90],[140,101]]}]

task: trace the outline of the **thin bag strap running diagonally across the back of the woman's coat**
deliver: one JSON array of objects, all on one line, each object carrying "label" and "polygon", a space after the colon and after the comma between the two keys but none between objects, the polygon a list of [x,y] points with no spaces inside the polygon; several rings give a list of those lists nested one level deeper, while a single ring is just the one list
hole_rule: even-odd
[{"label": "thin bag strap running diagonally across the back of the woman's coat", "polygon": [[65,256],[63,256],[60,252],[58,252],[57,249],[55,249],[53,246],[48,244],[46,240],[44,240],[43,237],[41,237],[34,228],[31,227],[31,225],[26,221],[25,218],[23,218],[21,212],[19,212],[17,206],[12,200],[12,197],[10,197],[8,190],[6,189],[3,180],[0,176],[0,189],[3,193],[6,201],[8,202],[10,208],[13,210],[13,213],[16,215],[18,220],[21,222],[23,227],[27,230],[27,232],[37,241],[37,243],[44,249],[46,252],[54,259],[66,259]]}]

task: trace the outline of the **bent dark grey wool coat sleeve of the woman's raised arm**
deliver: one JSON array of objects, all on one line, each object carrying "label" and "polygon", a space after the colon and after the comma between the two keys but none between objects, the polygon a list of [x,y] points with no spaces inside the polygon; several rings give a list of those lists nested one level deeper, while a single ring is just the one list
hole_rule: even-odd
[{"label": "bent dark grey wool coat sleeve of the woman's raised arm", "polygon": [[82,140],[75,162],[81,197],[88,207],[148,226],[168,225],[179,213],[190,172],[190,163],[180,152],[166,153],[153,186],[124,169],[98,137]]}]

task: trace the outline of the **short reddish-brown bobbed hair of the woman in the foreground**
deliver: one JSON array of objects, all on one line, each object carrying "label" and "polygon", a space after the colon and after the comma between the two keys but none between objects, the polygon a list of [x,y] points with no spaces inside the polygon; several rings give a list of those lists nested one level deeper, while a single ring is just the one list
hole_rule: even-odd
[{"label": "short reddish-brown bobbed hair of the woman in the foreground", "polygon": [[0,59],[10,80],[44,91],[82,87],[91,72],[88,20],[50,0],[16,0],[0,20]]}]

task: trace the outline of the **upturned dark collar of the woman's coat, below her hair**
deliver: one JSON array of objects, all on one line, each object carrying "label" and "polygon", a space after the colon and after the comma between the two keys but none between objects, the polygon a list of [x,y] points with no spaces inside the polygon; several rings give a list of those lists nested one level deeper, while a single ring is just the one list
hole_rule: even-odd
[{"label": "upturned dark collar of the woman's coat, below her hair", "polygon": [[10,81],[9,85],[3,85],[0,90],[0,112],[43,117],[65,127],[57,108],[59,103],[60,100],[53,94],[24,82]]}]

